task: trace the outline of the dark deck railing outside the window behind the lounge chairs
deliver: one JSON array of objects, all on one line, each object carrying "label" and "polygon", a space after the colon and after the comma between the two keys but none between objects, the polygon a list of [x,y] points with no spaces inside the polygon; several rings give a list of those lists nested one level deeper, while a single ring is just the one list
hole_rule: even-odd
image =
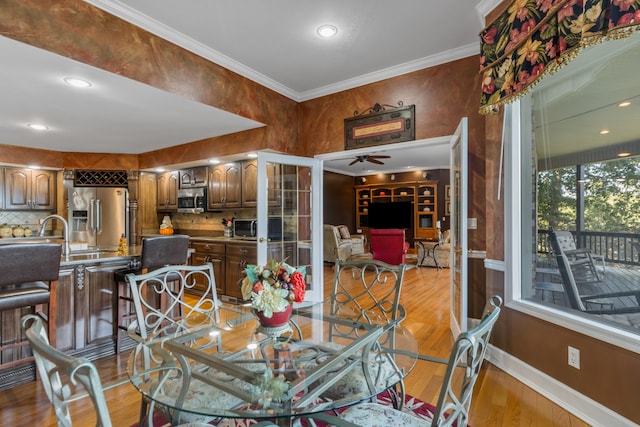
[{"label": "dark deck railing outside the window behind the lounge chairs", "polygon": [[[538,230],[539,253],[551,252],[549,233],[549,230]],[[571,233],[575,239],[576,232]],[[576,246],[604,255],[607,263],[640,265],[640,234],[581,231],[580,241],[576,242]]]}]

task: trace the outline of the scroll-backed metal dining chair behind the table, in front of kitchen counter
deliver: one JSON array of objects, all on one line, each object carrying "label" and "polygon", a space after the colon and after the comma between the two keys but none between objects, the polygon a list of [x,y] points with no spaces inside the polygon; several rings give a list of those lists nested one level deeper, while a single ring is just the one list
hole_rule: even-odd
[{"label": "scroll-backed metal dining chair behind the table, in front of kitchen counter", "polygon": [[[153,351],[150,350],[150,346],[154,342],[186,332],[197,325],[207,325],[212,320],[218,320],[218,308],[221,303],[216,293],[216,282],[211,263],[161,267],[146,274],[129,274],[127,281],[136,313],[135,320],[131,322],[127,332],[129,337],[138,342],[134,351],[143,352],[146,368],[164,363],[157,357],[159,354],[157,348]],[[196,285],[198,292],[191,293],[189,298],[185,298],[185,293]],[[158,305],[157,301],[160,299],[164,299],[165,303]],[[194,341],[192,345],[200,349],[221,350],[221,343],[215,336],[211,336],[208,340]],[[169,400],[180,399],[183,405],[189,405],[190,399],[203,398],[206,398],[211,405],[221,405],[222,407],[232,407],[241,402],[229,393],[203,382],[191,383],[189,378],[191,370],[199,370],[205,375],[207,373],[216,375],[217,373],[201,364],[183,366],[181,365],[183,362],[185,361],[179,359],[175,364],[179,374],[154,386],[154,393],[161,393]],[[185,394],[187,390],[188,394]],[[212,421],[211,417],[187,414],[170,407],[157,408],[155,403],[149,405],[147,399],[142,400],[141,421],[155,409],[162,411],[174,423]]]}]

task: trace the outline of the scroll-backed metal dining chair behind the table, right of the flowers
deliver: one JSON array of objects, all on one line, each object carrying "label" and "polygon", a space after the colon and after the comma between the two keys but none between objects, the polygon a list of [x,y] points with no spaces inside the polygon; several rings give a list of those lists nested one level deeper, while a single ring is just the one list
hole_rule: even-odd
[{"label": "scroll-backed metal dining chair behind the table, right of the flowers", "polygon": [[[390,328],[400,323],[406,316],[404,307],[400,305],[406,268],[406,264],[390,265],[371,259],[337,260],[333,288],[327,297],[331,313],[357,323],[382,327]],[[329,331],[329,342],[326,345],[339,348],[346,344],[340,342],[349,335],[350,332],[344,326],[336,327]],[[369,372],[365,373],[361,365],[354,367],[327,389],[326,397],[340,399],[353,395],[369,396],[371,381],[384,382],[392,388],[397,386],[397,394],[404,395],[404,384],[395,370],[393,352],[389,351],[394,348],[394,334],[390,332],[384,334],[384,337],[387,341],[379,342],[370,349]],[[372,372],[375,374],[370,375]]]}]

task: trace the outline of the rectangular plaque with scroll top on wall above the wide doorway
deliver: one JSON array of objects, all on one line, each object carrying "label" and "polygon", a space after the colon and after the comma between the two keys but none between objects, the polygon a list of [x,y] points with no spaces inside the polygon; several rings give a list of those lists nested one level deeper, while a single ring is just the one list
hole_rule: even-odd
[{"label": "rectangular plaque with scroll top on wall above the wide doorway", "polygon": [[345,150],[416,139],[415,105],[386,110],[376,104],[370,111],[344,119]]}]

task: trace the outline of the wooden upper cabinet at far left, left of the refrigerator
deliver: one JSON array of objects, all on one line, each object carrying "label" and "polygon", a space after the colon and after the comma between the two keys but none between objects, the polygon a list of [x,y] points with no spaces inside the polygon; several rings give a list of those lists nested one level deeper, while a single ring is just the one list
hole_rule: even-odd
[{"label": "wooden upper cabinet at far left, left of the refrigerator", "polygon": [[4,202],[7,210],[55,210],[56,172],[5,168]]}]

